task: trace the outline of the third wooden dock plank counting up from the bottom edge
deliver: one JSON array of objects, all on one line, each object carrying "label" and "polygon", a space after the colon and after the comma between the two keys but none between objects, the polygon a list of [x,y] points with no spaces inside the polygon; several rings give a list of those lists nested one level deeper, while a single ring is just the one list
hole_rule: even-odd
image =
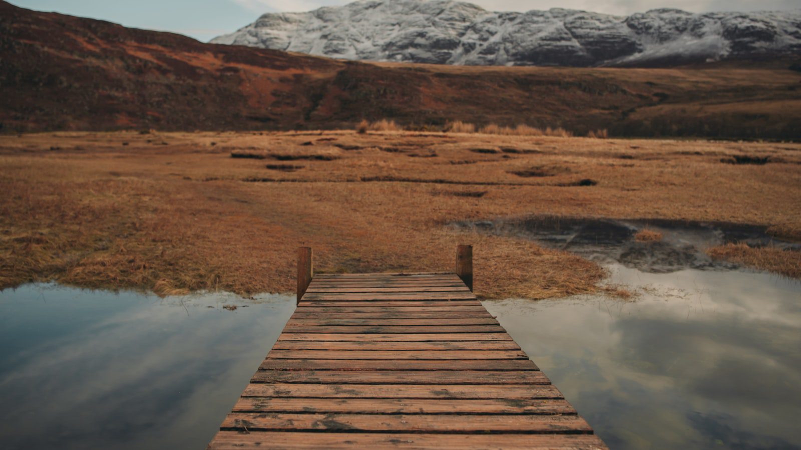
[{"label": "third wooden dock plank counting up from the bottom edge", "polygon": [[576,414],[566,400],[289,399],[240,397],[233,412],[338,412],[357,414]]}]

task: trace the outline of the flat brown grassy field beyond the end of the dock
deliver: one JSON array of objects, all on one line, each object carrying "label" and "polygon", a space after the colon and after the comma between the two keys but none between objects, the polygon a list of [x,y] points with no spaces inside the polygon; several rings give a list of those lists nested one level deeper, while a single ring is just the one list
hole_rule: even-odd
[{"label": "flat brown grassy field beyond the end of the dock", "polygon": [[[314,247],[318,271],[441,271],[457,243],[473,243],[477,294],[541,299],[602,290],[606,273],[576,255],[446,224],[716,220],[801,240],[801,145],[787,143],[409,131],[4,135],[0,190],[0,287],[52,279],[160,294],[292,291],[300,245]],[[736,253],[718,255],[781,271],[743,256],[749,249]],[[783,265],[798,266],[797,253]]]}]

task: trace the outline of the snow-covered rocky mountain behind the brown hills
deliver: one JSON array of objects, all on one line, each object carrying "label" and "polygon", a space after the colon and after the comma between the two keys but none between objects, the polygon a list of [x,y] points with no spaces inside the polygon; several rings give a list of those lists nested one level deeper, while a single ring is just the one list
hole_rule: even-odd
[{"label": "snow-covered rocky mountain behind the brown hills", "polygon": [[363,0],[264,14],[213,43],[331,58],[497,66],[615,66],[801,54],[801,9],[620,17],[578,10],[491,12],[451,0]]}]

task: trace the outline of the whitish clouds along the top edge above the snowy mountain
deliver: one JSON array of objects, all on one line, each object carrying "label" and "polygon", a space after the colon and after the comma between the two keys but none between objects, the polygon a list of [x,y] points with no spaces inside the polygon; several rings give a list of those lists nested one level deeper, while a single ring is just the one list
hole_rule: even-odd
[{"label": "whitish clouds along the top edge above the snowy mountain", "polygon": [[[233,0],[256,13],[300,12],[349,3],[348,0]],[[632,14],[656,8],[678,8],[692,12],[799,9],[798,0],[473,0],[486,10],[528,11],[553,7],[588,10],[606,14]]]}]

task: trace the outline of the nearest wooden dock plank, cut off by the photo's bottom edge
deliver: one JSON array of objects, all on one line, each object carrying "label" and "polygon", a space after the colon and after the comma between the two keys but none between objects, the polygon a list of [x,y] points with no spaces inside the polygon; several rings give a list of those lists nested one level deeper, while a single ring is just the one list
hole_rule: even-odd
[{"label": "nearest wooden dock plank, cut off by the photo's bottom edge", "polygon": [[528,448],[532,450],[605,450],[598,436],[590,434],[430,434],[354,432],[219,432],[208,450],[370,448],[371,450],[478,450]]}]

